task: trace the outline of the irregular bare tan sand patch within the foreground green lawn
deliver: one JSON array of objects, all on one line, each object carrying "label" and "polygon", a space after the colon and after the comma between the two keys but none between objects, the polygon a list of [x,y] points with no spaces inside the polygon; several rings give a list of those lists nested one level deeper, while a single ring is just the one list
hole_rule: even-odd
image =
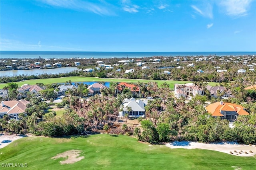
[{"label": "irregular bare tan sand patch within the foreground green lawn", "polygon": [[84,159],[84,156],[80,156],[82,150],[68,150],[66,152],[57,154],[52,159],[66,158],[64,161],[60,161],[60,164],[73,164]]}]

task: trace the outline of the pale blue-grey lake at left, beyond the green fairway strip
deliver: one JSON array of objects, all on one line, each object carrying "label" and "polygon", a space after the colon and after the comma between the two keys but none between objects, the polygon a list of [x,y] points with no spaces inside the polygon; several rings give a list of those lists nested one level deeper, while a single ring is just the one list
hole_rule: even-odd
[{"label": "pale blue-grey lake at left, beyond the green fairway strip", "polygon": [[39,75],[39,74],[59,74],[78,70],[77,67],[60,67],[48,69],[29,69],[29,70],[6,70],[0,71],[0,77],[12,77],[18,75]]}]

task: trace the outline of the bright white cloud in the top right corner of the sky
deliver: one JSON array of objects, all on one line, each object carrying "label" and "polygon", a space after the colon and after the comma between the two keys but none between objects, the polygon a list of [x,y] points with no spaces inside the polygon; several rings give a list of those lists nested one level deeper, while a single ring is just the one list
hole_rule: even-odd
[{"label": "bright white cloud in the top right corner of the sky", "polygon": [[252,0],[221,1],[220,5],[226,10],[228,16],[246,16]]}]

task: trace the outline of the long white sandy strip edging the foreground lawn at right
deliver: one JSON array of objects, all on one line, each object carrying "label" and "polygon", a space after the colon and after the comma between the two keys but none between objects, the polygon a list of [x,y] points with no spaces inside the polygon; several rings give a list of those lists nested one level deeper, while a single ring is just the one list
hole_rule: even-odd
[{"label": "long white sandy strip edging the foreground lawn at right", "polygon": [[[256,154],[256,145],[240,145],[240,144],[208,144],[208,143],[198,143],[198,142],[189,142],[189,146],[174,146],[172,143],[166,144],[166,147],[176,149],[176,148],[184,148],[184,149],[207,149],[207,150],[215,150],[219,152],[224,152],[227,154],[231,154],[235,156],[254,156]],[[253,152],[251,153],[250,150]],[[241,152],[242,151],[242,152]],[[245,153],[247,152],[247,154]]]}]

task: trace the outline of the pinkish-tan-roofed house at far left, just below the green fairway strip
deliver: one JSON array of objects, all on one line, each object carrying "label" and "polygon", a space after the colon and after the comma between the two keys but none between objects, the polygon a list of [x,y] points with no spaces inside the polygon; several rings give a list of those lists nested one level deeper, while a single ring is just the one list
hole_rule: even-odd
[{"label": "pinkish-tan-roofed house at far left, just below the green fairway strip", "polygon": [[40,90],[45,90],[45,88],[38,85],[23,84],[20,88],[17,89],[17,91],[19,92],[18,98],[26,98],[26,92],[30,92],[31,94],[39,96]]}]

